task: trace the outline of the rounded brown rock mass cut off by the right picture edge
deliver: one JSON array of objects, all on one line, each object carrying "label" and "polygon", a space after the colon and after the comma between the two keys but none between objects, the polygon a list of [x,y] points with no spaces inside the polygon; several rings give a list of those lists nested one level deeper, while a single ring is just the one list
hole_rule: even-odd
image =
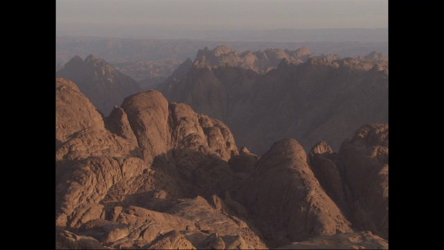
[{"label": "rounded brown rock mass cut off by the right picture edge", "polygon": [[366,124],[339,156],[353,201],[353,220],[360,230],[388,239],[388,125]]}]

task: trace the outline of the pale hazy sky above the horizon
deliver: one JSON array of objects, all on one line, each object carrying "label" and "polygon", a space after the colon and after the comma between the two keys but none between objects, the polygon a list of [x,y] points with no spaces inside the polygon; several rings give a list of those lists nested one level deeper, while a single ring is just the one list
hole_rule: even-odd
[{"label": "pale hazy sky above the horizon", "polygon": [[56,22],[152,28],[388,28],[388,0],[56,0]]}]

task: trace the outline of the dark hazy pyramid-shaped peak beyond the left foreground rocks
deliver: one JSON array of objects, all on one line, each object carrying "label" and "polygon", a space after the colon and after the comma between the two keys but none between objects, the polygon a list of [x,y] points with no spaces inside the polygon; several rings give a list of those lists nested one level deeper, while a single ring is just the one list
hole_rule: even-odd
[{"label": "dark hazy pyramid-shaped peak beyond the left foreground rocks", "polygon": [[119,106],[123,98],[140,91],[133,78],[92,55],[85,60],[74,56],[56,72],[56,77],[76,83],[80,91],[105,115],[109,115],[114,106]]}]

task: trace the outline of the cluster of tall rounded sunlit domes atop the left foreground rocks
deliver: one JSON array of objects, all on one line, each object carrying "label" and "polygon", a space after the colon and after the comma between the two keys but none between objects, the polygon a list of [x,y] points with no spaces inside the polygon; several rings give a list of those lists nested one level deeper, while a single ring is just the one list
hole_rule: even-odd
[{"label": "cluster of tall rounded sunlit domes atop the left foreground rocks", "polygon": [[213,153],[223,160],[237,153],[227,126],[206,115],[197,115],[183,103],[168,103],[155,90],[126,98],[122,108],[148,164],[171,149]]}]

